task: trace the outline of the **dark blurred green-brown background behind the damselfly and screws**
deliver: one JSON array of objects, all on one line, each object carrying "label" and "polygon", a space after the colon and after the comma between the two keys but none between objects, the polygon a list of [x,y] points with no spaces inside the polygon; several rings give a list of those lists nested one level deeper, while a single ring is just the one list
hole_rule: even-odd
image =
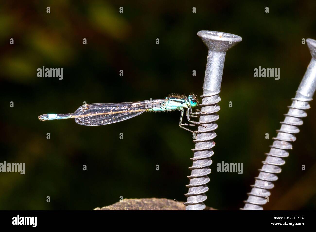
[{"label": "dark blurred green-brown background behind the damselfly and screws", "polygon": [[[38,115],[71,113],[84,101],[201,95],[207,48],[199,30],[243,38],[226,55],[205,202],[220,210],[243,207],[311,59],[301,41],[316,39],[315,7],[315,1],[2,2],[0,162],[26,163],[26,171],[0,173],[0,209],[91,210],[120,196],[186,201],[194,144],[178,126],[179,112],[144,113],[100,127],[40,122]],[[64,79],[37,77],[42,66],[64,68]],[[259,66],[280,68],[280,80],[253,77]],[[311,102],[264,209],[316,209],[315,109]],[[216,172],[222,161],[243,163],[243,174]]]}]

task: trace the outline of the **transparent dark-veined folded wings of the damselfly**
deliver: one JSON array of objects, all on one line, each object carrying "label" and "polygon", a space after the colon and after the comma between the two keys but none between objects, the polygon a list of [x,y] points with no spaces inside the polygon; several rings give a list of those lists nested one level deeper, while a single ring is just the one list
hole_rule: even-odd
[{"label": "transparent dark-veined folded wings of the damselfly", "polygon": [[100,126],[114,122],[121,122],[141,113],[156,105],[163,105],[166,99],[141,102],[85,104],[74,113],[76,123],[85,126]]}]

